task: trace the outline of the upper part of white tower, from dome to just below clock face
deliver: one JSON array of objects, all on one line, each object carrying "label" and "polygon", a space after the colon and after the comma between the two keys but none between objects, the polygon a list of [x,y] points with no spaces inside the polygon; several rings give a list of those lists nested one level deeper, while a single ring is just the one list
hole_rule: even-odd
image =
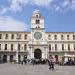
[{"label": "upper part of white tower, from dome to just below clock face", "polygon": [[44,17],[39,10],[35,10],[31,17],[31,35],[34,42],[45,40]]}]

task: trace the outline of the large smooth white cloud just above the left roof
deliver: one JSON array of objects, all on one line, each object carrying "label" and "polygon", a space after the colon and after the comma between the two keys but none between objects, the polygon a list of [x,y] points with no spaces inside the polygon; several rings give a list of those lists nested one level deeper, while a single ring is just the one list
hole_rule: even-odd
[{"label": "large smooth white cloud just above the left roof", "polygon": [[28,27],[24,22],[17,21],[11,17],[0,16],[0,31],[25,31]]}]

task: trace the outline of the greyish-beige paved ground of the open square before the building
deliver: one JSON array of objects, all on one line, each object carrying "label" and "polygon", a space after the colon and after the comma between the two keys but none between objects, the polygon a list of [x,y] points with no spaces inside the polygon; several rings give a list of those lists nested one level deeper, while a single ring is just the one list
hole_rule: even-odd
[{"label": "greyish-beige paved ground of the open square before the building", "polygon": [[0,75],[75,75],[75,66],[58,66],[49,70],[48,65],[0,64]]}]

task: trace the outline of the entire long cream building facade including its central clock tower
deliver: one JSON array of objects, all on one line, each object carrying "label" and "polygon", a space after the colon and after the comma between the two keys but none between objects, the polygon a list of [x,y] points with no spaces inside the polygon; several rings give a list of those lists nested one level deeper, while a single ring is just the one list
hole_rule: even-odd
[{"label": "entire long cream building facade including its central clock tower", "polygon": [[28,59],[55,61],[75,60],[75,32],[45,32],[44,17],[39,10],[31,16],[31,31],[0,31],[0,60],[5,62]]}]

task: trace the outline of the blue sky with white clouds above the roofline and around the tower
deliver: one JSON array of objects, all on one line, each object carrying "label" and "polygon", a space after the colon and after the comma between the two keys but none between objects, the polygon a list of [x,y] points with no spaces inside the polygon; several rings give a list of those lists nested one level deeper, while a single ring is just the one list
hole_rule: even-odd
[{"label": "blue sky with white clouds above the roofline and around the tower", "polygon": [[75,0],[0,0],[0,31],[29,31],[36,9],[47,32],[75,32]]}]

